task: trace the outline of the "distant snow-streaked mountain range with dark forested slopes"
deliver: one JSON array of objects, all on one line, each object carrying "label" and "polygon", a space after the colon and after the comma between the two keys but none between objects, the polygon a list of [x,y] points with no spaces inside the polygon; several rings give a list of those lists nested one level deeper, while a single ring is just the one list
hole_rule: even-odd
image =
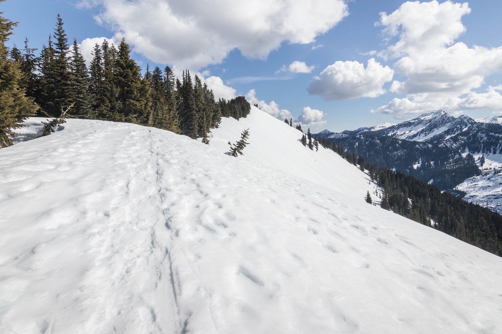
[{"label": "distant snow-streaked mountain range with dark forested slopes", "polygon": [[399,124],[314,136],[502,213],[502,116],[474,120],[438,110]]}]

